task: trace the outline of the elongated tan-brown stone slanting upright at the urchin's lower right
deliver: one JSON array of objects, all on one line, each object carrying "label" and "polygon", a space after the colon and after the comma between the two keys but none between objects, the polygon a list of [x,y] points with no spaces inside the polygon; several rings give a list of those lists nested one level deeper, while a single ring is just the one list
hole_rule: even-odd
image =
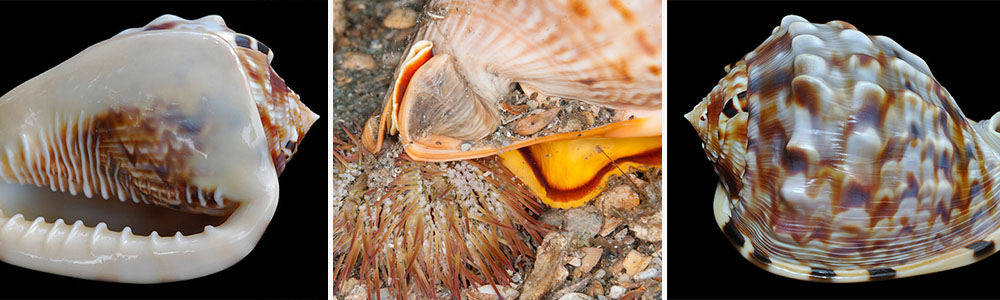
[{"label": "elongated tan-brown stone slanting upright at the urchin's lower right", "polygon": [[545,236],[535,256],[535,267],[524,282],[521,300],[541,299],[557,282],[569,276],[569,271],[562,266],[568,247],[569,241],[558,232]]}]

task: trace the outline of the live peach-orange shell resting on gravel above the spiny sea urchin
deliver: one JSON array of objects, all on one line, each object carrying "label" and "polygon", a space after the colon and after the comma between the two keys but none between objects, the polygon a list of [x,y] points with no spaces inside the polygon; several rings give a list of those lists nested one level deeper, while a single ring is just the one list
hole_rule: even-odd
[{"label": "live peach-orange shell resting on gravel above the spiny sea urchin", "polygon": [[[411,158],[449,161],[517,155],[512,150],[555,141],[660,136],[660,5],[431,1],[381,114],[366,123],[363,144],[378,153],[385,134],[398,133]],[[560,130],[545,120],[564,119],[572,111],[526,116],[532,113],[501,100],[516,86],[541,98],[580,100],[610,110],[614,120]],[[553,102],[543,110],[558,112],[561,101]],[[539,122],[504,122],[504,107],[519,112],[515,118]],[[595,152],[594,143],[585,149]],[[638,152],[659,153],[660,142],[640,147]],[[576,176],[585,182],[601,177]]]}]

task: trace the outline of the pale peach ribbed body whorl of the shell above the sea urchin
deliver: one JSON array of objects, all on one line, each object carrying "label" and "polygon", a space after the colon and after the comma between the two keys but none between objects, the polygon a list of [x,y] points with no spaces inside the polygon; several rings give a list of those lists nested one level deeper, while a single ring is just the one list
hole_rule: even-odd
[{"label": "pale peach ribbed body whorl of the shell above the sea urchin", "polygon": [[486,99],[518,82],[613,108],[660,106],[658,1],[435,0],[426,11],[415,40],[455,56]]}]

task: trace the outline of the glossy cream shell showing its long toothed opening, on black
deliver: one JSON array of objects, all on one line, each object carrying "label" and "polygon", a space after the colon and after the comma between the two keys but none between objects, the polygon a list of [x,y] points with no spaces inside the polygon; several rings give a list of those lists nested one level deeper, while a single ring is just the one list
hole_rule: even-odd
[{"label": "glossy cream shell showing its long toothed opening, on black", "polygon": [[[274,214],[278,174],[318,118],[271,69],[273,57],[219,16],[164,15],[0,97],[0,259],[130,283],[196,278],[241,260]],[[28,198],[27,185],[60,193]],[[120,201],[48,199],[80,194]],[[75,210],[90,201],[140,217]],[[150,210],[196,216],[165,225],[176,231],[130,226]]]}]

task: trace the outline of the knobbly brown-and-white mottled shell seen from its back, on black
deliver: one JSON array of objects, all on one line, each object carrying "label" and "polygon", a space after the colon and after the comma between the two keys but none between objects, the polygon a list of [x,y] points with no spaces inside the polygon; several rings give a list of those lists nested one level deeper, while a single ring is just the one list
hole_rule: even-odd
[{"label": "knobbly brown-and-white mottled shell seen from its back, on black", "polygon": [[927,64],[843,21],[790,15],[685,117],[741,255],[801,280],[971,264],[1000,236],[1000,114],[965,117]]}]

